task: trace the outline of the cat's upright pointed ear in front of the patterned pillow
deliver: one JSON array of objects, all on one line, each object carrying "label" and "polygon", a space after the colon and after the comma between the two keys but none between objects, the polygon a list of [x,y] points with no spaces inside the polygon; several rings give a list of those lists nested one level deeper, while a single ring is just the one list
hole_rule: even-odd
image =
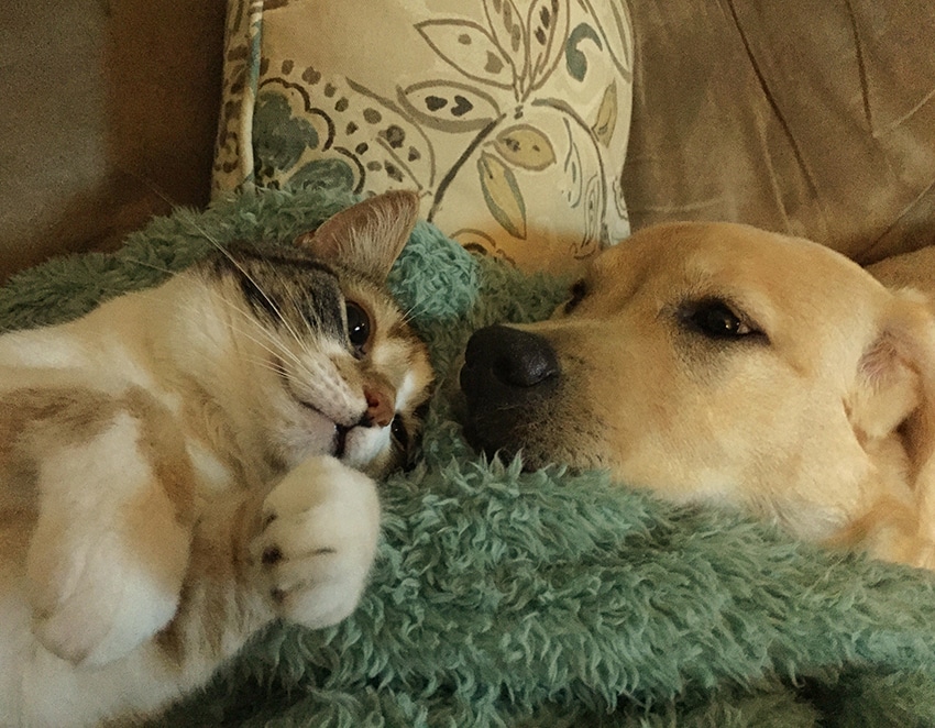
[{"label": "cat's upright pointed ear in front of the patterned pillow", "polygon": [[322,260],[338,261],[382,282],[409,240],[418,214],[416,192],[384,192],[341,210],[295,242]]}]

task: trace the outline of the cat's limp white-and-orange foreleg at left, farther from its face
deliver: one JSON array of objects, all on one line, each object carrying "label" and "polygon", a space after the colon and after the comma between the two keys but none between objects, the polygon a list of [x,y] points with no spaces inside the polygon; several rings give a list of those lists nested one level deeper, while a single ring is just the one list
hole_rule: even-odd
[{"label": "cat's limp white-and-orange foreleg at left, farther from its face", "polygon": [[44,443],[38,461],[26,596],[34,635],[75,664],[125,655],[178,604],[190,526],[179,488],[141,451],[141,427],[121,413],[81,442]]}]

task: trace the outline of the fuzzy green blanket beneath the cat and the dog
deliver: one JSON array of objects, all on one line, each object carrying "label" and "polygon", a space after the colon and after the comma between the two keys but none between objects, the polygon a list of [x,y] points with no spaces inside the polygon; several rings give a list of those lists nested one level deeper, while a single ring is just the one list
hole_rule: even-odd
[{"label": "fuzzy green blanket beneath the cat and the dog", "polygon": [[[0,289],[0,326],[81,313],[209,247],[288,241],[349,203],[265,192],[154,221],[113,255]],[[625,243],[624,243],[625,244]],[[277,625],[164,726],[935,726],[935,582],[679,508],[561,467],[488,464],[451,417],[470,332],[542,318],[562,283],[473,257],[420,223],[395,293],[441,384],[414,472],[382,486],[359,610]]]}]

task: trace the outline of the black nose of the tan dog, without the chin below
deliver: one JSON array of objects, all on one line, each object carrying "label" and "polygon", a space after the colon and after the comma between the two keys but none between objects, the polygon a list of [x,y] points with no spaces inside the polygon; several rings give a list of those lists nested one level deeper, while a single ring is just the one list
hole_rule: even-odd
[{"label": "black nose of the tan dog, without the chin below", "polygon": [[556,351],[543,337],[492,326],[475,331],[468,342],[461,388],[469,401],[512,405],[544,394],[559,374]]}]

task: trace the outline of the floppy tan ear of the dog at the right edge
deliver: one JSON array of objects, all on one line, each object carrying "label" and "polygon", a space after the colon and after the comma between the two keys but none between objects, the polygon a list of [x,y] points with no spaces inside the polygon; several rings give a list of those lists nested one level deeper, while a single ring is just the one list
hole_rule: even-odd
[{"label": "floppy tan ear of the dog at the right edge", "polygon": [[868,452],[894,440],[905,454],[920,542],[935,543],[935,319],[919,294],[893,294],[858,364],[847,402]]}]

